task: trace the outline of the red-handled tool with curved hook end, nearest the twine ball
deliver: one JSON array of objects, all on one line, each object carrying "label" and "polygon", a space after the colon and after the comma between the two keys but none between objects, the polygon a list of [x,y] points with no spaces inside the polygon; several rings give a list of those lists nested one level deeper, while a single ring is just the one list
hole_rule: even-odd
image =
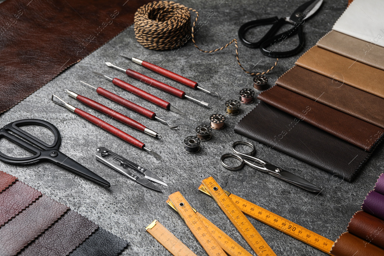
[{"label": "red-handled tool with curved hook end, nearest the twine ball", "polygon": [[120,56],[127,58],[127,59],[130,59],[131,61],[133,61],[136,64],[139,64],[139,65],[141,65],[147,69],[150,69],[150,70],[156,72],[157,74],[161,74],[167,78],[170,78],[176,82],[179,82],[180,84],[184,84],[184,85],[186,85],[192,89],[199,89],[199,90],[201,90],[203,92],[207,92],[209,94],[215,93],[215,94],[217,94],[217,97],[220,99],[220,94],[218,94],[217,92],[210,92],[204,88],[201,88],[197,82],[192,81],[188,78],[185,78],[184,76],[180,76],[179,74],[173,73],[172,71],[169,71],[168,69],[162,68],[160,66],[156,66],[155,64],[149,63],[147,61],[143,61],[141,59],[131,58],[131,57],[128,57],[128,56],[122,55],[122,54],[120,54]]}]

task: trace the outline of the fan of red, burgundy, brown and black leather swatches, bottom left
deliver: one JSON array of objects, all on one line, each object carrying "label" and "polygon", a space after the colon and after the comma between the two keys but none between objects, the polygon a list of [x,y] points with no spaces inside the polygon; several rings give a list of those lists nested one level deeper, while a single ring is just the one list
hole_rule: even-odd
[{"label": "fan of red, burgundy, brown and black leather swatches, bottom left", "polygon": [[128,243],[0,171],[0,256],[115,256]]}]

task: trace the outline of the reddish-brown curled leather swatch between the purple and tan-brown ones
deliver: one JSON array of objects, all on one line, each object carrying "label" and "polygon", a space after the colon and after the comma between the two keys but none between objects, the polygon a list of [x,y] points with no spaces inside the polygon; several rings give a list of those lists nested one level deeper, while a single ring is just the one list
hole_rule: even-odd
[{"label": "reddish-brown curled leather swatch between the purple and tan-brown ones", "polygon": [[368,243],[384,248],[384,221],[365,211],[358,211],[353,215],[347,231]]}]

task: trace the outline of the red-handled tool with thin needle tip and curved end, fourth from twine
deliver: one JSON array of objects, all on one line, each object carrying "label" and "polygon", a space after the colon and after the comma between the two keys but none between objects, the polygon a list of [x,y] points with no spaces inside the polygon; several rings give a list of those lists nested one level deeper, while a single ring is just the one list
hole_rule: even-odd
[{"label": "red-handled tool with thin needle tip and curved end, fourth from twine", "polygon": [[171,126],[167,121],[161,119],[160,117],[157,117],[155,112],[150,111],[150,110],[148,110],[145,107],[142,107],[140,105],[137,105],[137,104],[135,104],[135,103],[133,103],[127,99],[124,99],[123,97],[120,97],[117,94],[114,94],[113,92],[110,92],[110,91],[108,91],[104,88],[101,88],[101,87],[96,88],[94,86],[91,86],[90,84],[84,83],[83,81],[80,81],[80,82],[90,86],[93,89],[96,89],[96,92],[98,94],[100,94],[101,96],[104,96],[107,99],[110,99],[111,101],[114,101],[114,102],[120,104],[121,106],[124,106],[128,109],[131,109],[132,111],[135,111],[136,113],[139,113],[145,117],[148,117],[149,119],[152,119],[152,120],[157,119],[160,122],[166,124],[171,129],[175,129],[178,127],[178,126]]}]

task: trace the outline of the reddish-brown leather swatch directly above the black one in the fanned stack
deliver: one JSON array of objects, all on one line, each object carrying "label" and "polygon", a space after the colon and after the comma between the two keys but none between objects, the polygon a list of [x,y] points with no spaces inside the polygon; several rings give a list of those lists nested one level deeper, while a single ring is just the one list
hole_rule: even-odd
[{"label": "reddish-brown leather swatch directly above the black one in the fanned stack", "polygon": [[380,127],[277,85],[261,92],[257,98],[367,151],[379,141],[370,141],[372,135],[384,134]]}]

